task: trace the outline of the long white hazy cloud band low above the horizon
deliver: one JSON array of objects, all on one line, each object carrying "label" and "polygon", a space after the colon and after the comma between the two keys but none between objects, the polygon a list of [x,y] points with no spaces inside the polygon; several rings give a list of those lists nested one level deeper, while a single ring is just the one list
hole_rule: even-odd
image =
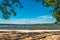
[{"label": "long white hazy cloud band low above the horizon", "polygon": [[39,16],[36,18],[28,18],[28,19],[9,19],[9,20],[1,20],[0,23],[10,23],[10,24],[36,24],[36,23],[53,23],[55,19],[50,15]]}]

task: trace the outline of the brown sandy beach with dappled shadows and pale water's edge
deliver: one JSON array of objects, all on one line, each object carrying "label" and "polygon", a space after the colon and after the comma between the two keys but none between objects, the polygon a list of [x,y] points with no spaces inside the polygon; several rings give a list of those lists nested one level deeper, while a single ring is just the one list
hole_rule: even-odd
[{"label": "brown sandy beach with dappled shadows and pale water's edge", "polygon": [[60,40],[60,31],[0,30],[0,40]]}]

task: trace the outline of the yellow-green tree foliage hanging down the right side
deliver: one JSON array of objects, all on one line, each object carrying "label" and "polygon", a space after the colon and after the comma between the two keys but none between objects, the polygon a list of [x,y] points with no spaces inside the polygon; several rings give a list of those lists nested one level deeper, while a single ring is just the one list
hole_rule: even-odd
[{"label": "yellow-green tree foliage hanging down the right side", "polygon": [[60,0],[34,0],[36,2],[42,2],[46,7],[53,7],[53,17],[56,18],[57,22],[60,22]]}]

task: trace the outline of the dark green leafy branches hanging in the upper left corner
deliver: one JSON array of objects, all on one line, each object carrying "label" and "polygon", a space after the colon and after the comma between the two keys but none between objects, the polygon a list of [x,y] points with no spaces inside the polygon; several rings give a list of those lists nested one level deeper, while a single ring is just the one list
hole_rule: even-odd
[{"label": "dark green leafy branches hanging in the upper left corner", "polygon": [[16,16],[15,7],[23,8],[20,0],[3,0],[0,2],[0,11],[2,12],[2,17],[8,19],[11,14]]}]

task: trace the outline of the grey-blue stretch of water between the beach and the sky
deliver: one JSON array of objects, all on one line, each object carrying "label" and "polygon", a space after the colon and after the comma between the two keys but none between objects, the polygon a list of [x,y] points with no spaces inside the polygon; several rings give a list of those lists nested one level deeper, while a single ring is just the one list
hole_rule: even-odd
[{"label": "grey-blue stretch of water between the beach and the sky", "polygon": [[58,30],[60,29],[60,25],[0,24],[0,29],[2,30]]}]

